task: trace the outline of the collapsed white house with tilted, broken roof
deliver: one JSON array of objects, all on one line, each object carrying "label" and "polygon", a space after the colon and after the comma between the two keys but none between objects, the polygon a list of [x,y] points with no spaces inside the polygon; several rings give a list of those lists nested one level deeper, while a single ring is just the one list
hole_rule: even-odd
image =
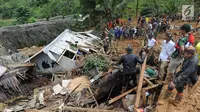
[{"label": "collapsed white house with tilted, broken roof", "polygon": [[97,52],[100,38],[88,32],[73,32],[66,29],[41,51],[25,62],[35,63],[40,73],[68,72],[76,68],[79,55]]}]

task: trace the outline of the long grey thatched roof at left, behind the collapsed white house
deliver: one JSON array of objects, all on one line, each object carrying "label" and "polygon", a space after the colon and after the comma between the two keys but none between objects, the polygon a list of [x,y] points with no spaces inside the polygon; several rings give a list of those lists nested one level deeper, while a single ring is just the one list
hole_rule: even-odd
[{"label": "long grey thatched roof at left, behind the collapsed white house", "polygon": [[50,43],[72,24],[72,19],[43,21],[0,28],[0,56],[19,48]]}]

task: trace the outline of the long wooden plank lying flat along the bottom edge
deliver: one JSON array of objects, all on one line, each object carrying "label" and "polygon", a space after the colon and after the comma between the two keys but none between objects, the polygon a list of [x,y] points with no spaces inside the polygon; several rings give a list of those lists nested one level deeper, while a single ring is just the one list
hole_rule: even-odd
[{"label": "long wooden plank lying flat along the bottom edge", "polygon": [[116,110],[103,110],[103,109],[94,109],[94,108],[80,108],[80,107],[70,107],[63,106],[62,110],[75,111],[75,112],[127,112],[127,111],[116,111]]}]

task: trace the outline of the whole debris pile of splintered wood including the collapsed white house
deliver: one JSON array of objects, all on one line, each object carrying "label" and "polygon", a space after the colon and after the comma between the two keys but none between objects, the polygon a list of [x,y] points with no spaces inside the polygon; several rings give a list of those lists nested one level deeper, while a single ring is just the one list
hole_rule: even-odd
[{"label": "whole debris pile of splintered wood including the collapsed white house", "polygon": [[[119,59],[125,46],[119,44],[123,47],[116,56],[101,54],[99,44],[92,43],[98,39],[88,32],[65,30],[26,60],[28,64],[12,65],[13,68],[8,68],[0,77],[0,89],[3,90],[0,99],[9,105],[3,110],[152,111],[162,87],[157,81],[156,70],[153,68],[155,74],[150,74],[145,59],[141,73],[137,74],[138,84],[130,82],[127,91],[120,93],[123,72],[113,57]],[[134,46],[136,43],[135,52],[139,51],[142,40],[125,41]],[[21,92],[21,88],[27,88],[22,86],[25,82],[37,83],[34,87],[29,85],[28,94]],[[22,96],[8,96],[11,90]],[[12,101],[6,102],[7,99]]]}]

